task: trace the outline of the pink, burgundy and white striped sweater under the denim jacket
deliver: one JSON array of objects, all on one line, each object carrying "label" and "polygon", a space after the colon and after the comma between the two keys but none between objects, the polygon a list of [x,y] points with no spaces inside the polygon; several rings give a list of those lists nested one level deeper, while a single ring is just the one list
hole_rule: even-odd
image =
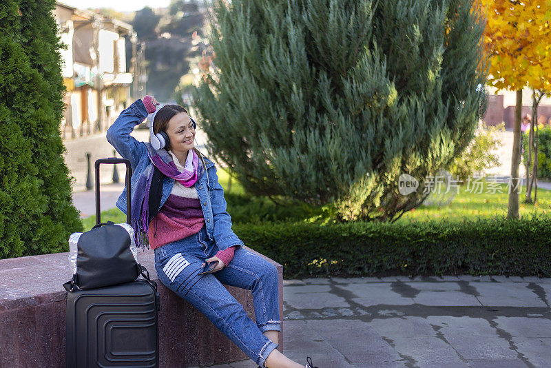
[{"label": "pink, burgundy and white striped sweater under the denim jacket", "polygon": [[[184,171],[184,167],[176,158],[176,155],[168,150],[178,170]],[[162,247],[165,244],[178,241],[193,234],[197,234],[205,225],[205,218],[202,213],[199,195],[195,185],[185,187],[178,181],[174,181],[174,187],[170,192],[167,201],[160,211],[149,223],[149,245],[151,249]],[[216,256],[225,265],[233,258],[235,246],[224,251],[218,251]]]}]

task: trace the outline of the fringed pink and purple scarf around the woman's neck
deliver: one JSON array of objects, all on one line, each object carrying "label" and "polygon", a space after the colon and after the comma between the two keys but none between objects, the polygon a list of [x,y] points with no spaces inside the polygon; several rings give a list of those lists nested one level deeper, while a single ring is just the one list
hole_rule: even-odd
[{"label": "fringed pink and purple scarf around the woman's neck", "polygon": [[[184,165],[184,172],[180,172],[174,163],[172,156],[161,148],[155,150],[150,143],[145,143],[147,147],[147,156],[152,165],[147,165],[143,173],[138,178],[134,187],[132,187],[132,227],[134,228],[134,239],[136,246],[149,248],[149,192],[152,185],[154,167],[162,174],[173,178],[185,187],[195,185],[197,179],[201,176],[203,167],[199,165],[199,156],[195,150],[189,150]],[[162,185],[162,181],[161,181]]]}]

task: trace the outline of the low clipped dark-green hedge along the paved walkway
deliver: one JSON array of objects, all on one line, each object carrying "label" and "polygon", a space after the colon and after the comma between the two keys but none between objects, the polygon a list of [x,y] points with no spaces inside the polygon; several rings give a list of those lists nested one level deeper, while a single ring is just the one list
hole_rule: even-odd
[{"label": "low clipped dark-green hedge along the paved walkway", "polygon": [[285,278],[505,274],[551,276],[551,218],[423,223],[234,224]]}]

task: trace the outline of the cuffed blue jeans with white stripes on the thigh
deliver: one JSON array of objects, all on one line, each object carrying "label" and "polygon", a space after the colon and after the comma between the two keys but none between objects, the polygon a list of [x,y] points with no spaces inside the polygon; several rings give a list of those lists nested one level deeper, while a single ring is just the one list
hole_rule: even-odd
[{"label": "cuffed blue jeans with white stripes on the thigh", "polygon": [[[237,247],[226,267],[198,275],[201,263],[218,252],[205,226],[197,234],[154,250],[155,269],[163,285],[194,305],[260,367],[279,345],[264,331],[281,331],[278,270],[264,258]],[[256,323],[222,285],[252,290]]]}]

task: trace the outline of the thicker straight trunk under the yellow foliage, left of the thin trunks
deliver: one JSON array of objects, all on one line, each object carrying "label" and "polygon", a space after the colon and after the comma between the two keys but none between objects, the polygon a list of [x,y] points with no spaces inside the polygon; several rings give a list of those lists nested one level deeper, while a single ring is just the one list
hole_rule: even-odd
[{"label": "thicker straight trunk under the yellow foliage, left of the thin trunks", "polygon": [[511,158],[511,178],[507,218],[520,218],[519,214],[519,164],[521,138],[522,90],[517,90],[517,105],[514,108],[514,128]]}]

